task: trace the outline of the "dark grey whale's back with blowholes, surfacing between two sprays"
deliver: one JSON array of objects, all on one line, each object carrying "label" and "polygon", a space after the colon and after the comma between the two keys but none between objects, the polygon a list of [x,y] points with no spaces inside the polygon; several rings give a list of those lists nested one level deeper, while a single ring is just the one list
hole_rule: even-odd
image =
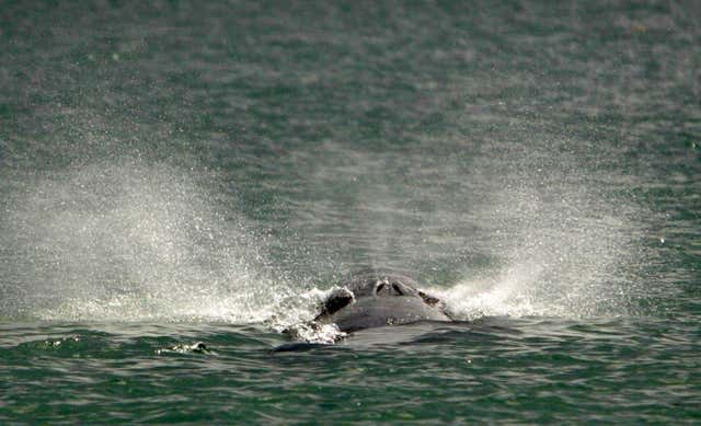
[{"label": "dark grey whale's back with blowholes, surfacing between two sprays", "polygon": [[392,270],[356,272],[325,300],[314,322],[334,323],[350,333],[418,321],[452,321],[440,300],[416,287],[412,278]]}]

